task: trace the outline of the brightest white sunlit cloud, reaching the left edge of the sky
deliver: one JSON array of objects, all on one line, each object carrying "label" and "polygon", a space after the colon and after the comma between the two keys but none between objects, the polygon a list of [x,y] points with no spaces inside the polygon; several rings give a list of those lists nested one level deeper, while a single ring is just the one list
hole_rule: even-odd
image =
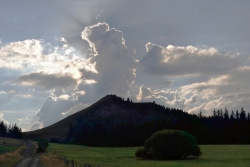
[{"label": "brightest white sunlit cloud, reaching the left edge of the sky", "polygon": [[43,40],[24,40],[6,43],[0,46],[0,68],[17,69],[22,74],[70,74],[81,77],[79,69],[92,70],[88,62],[64,41],[55,41],[55,45]]}]

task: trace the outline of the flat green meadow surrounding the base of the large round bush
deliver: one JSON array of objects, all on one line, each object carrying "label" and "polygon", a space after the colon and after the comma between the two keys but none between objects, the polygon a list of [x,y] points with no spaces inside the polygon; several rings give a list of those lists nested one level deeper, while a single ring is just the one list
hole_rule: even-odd
[{"label": "flat green meadow surrounding the base of the large round bush", "polygon": [[77,163],[100,167],[246,167],[250,166],[250,145],[201,145],[200,159],[180,161],[140,160],[136,147],[86,147],[50,143],[49,152],[60,153]]}]

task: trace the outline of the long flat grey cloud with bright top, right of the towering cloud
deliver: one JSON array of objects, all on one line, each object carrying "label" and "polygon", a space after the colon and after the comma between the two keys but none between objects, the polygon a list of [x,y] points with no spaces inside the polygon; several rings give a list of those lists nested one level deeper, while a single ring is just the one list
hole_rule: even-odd
[{"label": "long flat grey cloud with bright top, right of the towering cloud", "polygon": [[220,75],[239,66],[237,54],[223,54],[216,48],[194,46],[166,48],[146,44],[147,54],[141,60],[147,73],[166,76]]}]

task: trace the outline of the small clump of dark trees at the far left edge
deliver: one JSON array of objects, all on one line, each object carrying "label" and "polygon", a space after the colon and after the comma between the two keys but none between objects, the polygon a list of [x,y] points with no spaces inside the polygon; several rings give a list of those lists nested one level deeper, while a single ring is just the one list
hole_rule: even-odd
[{"label": "small clump of dark trees at the far left edge", "polygon": [[0,122],[0,137],[9,137],[9,138],[22,138],[22,129],[16,124],[7,124],[4,121]]}]

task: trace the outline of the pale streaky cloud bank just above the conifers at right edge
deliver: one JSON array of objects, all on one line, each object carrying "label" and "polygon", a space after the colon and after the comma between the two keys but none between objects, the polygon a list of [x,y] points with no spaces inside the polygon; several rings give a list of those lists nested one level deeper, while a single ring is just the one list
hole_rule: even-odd
[{"label": "pale streaky cloud bank just above the conifers at right edge", "polygon": [[205,82],[197,82],[181,87],[184,96],[199,94],[203,102],[199,106],[190,108],[189,112],[203,110],[207,114],[215,108],[231,110],[241,107],[250,108],[250,67],[244,66],[232,70],[227,75],[211,78]]}]

